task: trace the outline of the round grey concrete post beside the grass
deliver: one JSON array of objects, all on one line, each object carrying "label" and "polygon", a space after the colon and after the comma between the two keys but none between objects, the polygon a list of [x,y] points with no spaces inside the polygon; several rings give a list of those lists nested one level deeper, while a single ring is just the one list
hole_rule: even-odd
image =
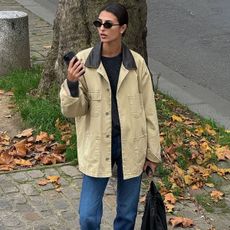
[{"label": "round grey concrete post beside the grass", "polygon": [[0,77],[12,70],[28,68],[28,15],[21,11],[0,11]]}]

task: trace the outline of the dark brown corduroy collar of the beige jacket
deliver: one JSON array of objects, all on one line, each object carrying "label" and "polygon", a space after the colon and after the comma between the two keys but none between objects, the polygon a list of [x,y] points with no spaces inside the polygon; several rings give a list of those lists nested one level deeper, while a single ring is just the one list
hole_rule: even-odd
[{"label": "dark brown corduroy collar of the beige jacket", "polygon": [[[85,66],[88,68],[97,69],[101,62],[101,48],[102,43],[98,43],[89,53],[89,56],[85,62]],[[129,48],[122,43],[122,62],[126,69],[137,69],[135,60]]]}]

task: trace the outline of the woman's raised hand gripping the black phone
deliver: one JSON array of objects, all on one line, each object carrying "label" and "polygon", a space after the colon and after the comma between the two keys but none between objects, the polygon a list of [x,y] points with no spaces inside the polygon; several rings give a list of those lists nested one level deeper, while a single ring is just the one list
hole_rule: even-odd
[{"label": "woman's raised hand gripping the black phone", "polygon": [[67,78],[69,81],[79,81],[80,77],[85,73],[84,64],[81,60],[75,61],[76,57],[72,58],[68,66]]}]

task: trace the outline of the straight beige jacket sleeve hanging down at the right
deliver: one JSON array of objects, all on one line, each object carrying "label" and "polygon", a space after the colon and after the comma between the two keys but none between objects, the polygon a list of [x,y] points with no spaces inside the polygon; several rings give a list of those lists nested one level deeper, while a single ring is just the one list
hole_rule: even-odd
[{"label": "straight beige jacket sleeve hanging down at the right", "polygon": [[159,163],[161,161],[161,147],[153,83],[144,59],[141,66],[139,87],[143,98],[147,126],[146,158],[152,162]]}]

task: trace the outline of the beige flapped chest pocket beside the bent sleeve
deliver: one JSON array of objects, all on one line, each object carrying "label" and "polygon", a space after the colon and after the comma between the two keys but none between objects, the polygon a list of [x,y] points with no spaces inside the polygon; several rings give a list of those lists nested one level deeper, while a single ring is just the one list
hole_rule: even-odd
[{"label": "beige flapped chest pocket beside the bent sleeve", "polygon": [[101,92],[100,91],[92,91],[89,92],[89,111],[92,117],[98,117],[100,115],[101,110]]}]

